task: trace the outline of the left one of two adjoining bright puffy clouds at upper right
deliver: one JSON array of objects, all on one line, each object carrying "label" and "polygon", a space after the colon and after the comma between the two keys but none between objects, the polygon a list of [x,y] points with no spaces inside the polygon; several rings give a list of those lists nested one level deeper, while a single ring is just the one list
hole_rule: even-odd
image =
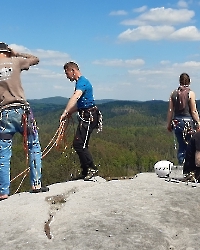
[{"label": "left one of two adjoining bright puffy clouds at upper right", "polygon": [[119,34],[118,38],[124,41],[167,39],[175,31],[172,26],[141,26],[135,29],[127,29]]}]

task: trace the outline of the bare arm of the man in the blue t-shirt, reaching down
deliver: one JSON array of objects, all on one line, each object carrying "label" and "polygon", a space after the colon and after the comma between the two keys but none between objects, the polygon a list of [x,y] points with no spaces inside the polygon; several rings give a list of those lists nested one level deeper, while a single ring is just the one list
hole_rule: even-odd
[{"label": "bare arm of the man in the blue t-shirt, reaching down", "polygon": [[73,96],[69,99],[63,114],[60,117],[60,121],[64,120],[67,116],[72,115],[77,111],[77,101],[82,96],[83,92],[81,90],[76,90]]}]

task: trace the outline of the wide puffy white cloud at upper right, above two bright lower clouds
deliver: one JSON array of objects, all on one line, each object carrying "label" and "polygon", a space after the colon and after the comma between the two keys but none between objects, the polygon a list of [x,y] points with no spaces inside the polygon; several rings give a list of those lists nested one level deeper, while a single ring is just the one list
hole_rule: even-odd
[{"label": "wide puffy white cloud at upper right, above two bright lower clouds", "polygon": [[195,13],[187,9],[171,9],[171,8],[153,8],[141,14],[136,19],[124,20],[121,24],[124,25],[150,25],[150,24],[165,24],[177,25],[186,23],[192,20]]}]

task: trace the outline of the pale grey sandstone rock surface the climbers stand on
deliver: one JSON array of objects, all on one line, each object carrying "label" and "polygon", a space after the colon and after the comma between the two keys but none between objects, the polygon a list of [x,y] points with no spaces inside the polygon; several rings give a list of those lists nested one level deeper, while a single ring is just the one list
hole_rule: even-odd
[{"label": "pale grey sandstone rock surface the climbers stand on", "polygon": [[0,202],[0,249],[199,250],[198,185],[143,173],[15,194]]}]

